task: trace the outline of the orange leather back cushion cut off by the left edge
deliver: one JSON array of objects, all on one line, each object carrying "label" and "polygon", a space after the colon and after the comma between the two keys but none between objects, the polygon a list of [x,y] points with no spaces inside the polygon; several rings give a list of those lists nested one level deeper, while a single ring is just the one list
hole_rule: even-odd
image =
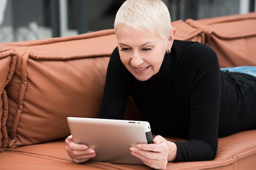
[{"label": "orange leather back cushion cut off by the left edge", "polygon": [[7,148],[7,117],[8,117],[8,101],[5,86],[9,83],[16,65],[16,55],[13,50],[2,48],[0,46],[0,153]]}]

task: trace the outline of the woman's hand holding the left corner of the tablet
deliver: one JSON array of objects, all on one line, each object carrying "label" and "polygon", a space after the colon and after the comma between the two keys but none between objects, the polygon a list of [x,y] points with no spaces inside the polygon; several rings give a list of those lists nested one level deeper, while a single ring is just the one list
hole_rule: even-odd
[{"label": "woman's hand holding the left corner of the tablet", "polygon": [[74,143],[72,135],[68,136],[65,142],[67,144],[67,154],[75,163],[82,163],[96,156],[95,150],[92,148],[88,148],[88,146],[83,144]]}]

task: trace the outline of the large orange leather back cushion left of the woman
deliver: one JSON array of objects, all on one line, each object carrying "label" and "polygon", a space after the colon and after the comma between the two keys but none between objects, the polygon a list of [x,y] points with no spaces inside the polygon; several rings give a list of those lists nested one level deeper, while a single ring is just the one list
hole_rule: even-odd
[{"label": "large orange leather back cushion left of the woman", "polygon": [[116,45],[113,30],[5,44],[18,56],[6,87],[8,147],[67,137],[68,116],[96,117]]}]

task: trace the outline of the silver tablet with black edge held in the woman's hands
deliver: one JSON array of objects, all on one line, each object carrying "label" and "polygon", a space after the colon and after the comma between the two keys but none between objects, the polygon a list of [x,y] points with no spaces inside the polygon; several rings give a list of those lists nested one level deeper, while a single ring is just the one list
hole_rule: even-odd
[{"label": "silver tablet with black edge held in the woman's hands", "polygon": [[129,148],[153,143],[146,121],[68,117],[67,122],[74,142],[95,150],[89,161],[143,165]]}]

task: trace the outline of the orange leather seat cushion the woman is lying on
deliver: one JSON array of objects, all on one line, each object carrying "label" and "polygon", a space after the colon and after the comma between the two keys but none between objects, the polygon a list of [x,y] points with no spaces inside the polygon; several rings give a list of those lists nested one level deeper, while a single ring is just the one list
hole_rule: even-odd
[{"label": "orange leather seat cushion the woman is lying on", "polygon": [[[166,139],[169,141],[185,141],[184,139],[172,137],[167,137]],[[61,169],[93,169],[98,167],[107,170],[151,170],[151,168],[148,166],[112,164],[104,162],[86,162],[77,165],[72,162],[72,159],[67,155],[64,140],[65,139],[37,145],[22,146],[15,149],[7,148],[6,152],[3,154],[8,153],[8,155],[1,157],[5,160],[1,162],[1,167],[4,169],[12,169],[15,168],[16,163],[20,165],[19,162],[22,160],[23,163],[27,162],[27,164],[22,165],[24,169],[33,169],[31,168],[30,162],[28,160],[31,161],[37,157],[41,159],[40,161],[36,159],[36,165],[42,165],[42,167],[45,169],[48,169],[48,162],[51,160],[56,161],[54,165],[59,165],[59,162],[65,162],[65,167],[63,167],[64,164],[60,165]],[[219,139],[218,151],[214,160],[178,163],[168,162],[166,170],[255,170],[256,162],[253,161],[256,159],[255,141],[256,130],[243,131],[227,137],[223,137]],[[13,160],[13,156],[15,156],[16,159]],[[10,161],[13,161],[14,165],[10,165]],[[51,166],[49,166],[49,169],[51,169]]]}]

